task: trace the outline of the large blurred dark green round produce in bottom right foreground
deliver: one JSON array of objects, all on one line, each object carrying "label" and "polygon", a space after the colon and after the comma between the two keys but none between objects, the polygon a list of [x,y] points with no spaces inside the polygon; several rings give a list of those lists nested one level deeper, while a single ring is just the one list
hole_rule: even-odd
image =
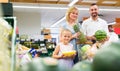
[{"label": "large blurred dark green round produce in bottom right foreground", "polygon": [[100,49],[93,59],[93,71],[120,71],[120,41]]}]

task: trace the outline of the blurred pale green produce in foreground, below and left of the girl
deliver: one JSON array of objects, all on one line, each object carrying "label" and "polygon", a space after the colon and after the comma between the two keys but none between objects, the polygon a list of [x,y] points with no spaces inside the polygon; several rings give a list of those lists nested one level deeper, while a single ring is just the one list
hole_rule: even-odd
[{"label": "blurred pale green produce in foreground, below and left of the girl", "polygon": [[34,58],[28,64],[20,67],[19,71],[67,71],[64,68],[58,66],[58,60],[45,57]]}]

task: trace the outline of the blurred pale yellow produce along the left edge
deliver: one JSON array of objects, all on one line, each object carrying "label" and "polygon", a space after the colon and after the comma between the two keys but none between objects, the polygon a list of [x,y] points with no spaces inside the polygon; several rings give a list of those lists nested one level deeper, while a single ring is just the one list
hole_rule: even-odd
[{"label": "blurred pale yellow produce along the left edge", "polygon": [[9,34],[12,27],[0,18],[0,71],[10,71],[11,69],[11,41]]}]

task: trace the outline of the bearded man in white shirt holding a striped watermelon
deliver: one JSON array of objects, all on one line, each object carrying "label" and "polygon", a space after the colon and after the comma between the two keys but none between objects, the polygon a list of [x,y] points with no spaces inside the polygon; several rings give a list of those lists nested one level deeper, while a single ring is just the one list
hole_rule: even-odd
[{"label": "bearded man in white shirt holding a striped watermelon", "polygon": [[91,4],[89,12],[90,18],[83,21],[82,30],[86,35],[87,39],[95,43],[96,38],[94,37],[94,34],[97,30],[105,30],[107,35],[109,35],[108,25],[105,20],[99,18],[99,8],[95,3]]}]

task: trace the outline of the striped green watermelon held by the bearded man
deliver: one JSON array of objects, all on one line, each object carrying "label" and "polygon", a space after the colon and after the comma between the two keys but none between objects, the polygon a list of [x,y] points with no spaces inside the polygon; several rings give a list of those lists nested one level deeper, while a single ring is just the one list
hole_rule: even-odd
[{"label": "striped green watermelon held by the bearded man", "polygon": [[104,30],[97,30],[95,32],[95,37],[97,41],[102,41],[104,38],[107,37],[107,33]]}]

